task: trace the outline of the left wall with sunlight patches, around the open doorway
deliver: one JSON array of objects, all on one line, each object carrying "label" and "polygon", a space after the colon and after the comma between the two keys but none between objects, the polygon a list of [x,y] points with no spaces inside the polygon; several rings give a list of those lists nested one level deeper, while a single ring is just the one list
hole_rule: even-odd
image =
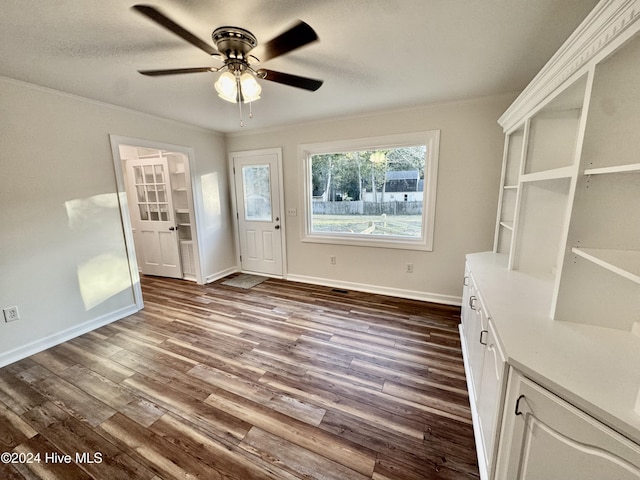
[{"label": "left wall with sunlight patches, around the open doorway", "polygon": [[131,311],[109,134],[192,147],[206,277],[235,268],[224,137],[0,78],[0,366]]}]

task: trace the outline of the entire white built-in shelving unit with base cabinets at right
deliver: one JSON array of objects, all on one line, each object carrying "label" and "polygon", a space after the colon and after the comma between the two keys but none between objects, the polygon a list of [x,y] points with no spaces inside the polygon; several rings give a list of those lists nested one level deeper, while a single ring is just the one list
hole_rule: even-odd
[{"label": "entire white built-in shelving unit with base cabinets at right", "polygon": [[601,0],[499,123],[460,327],[481,478],[640,479],[640,0]]}]

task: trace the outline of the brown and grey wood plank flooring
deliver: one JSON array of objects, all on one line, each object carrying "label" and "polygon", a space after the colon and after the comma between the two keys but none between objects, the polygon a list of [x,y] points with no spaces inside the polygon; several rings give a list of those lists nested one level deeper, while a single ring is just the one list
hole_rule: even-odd
[{"label": "brown and grey wood plank flooring", "polygon": [[458,308],[276,279],[143,293],[0,369],[0,452],[40,454],[0,478],[479,478]]}]

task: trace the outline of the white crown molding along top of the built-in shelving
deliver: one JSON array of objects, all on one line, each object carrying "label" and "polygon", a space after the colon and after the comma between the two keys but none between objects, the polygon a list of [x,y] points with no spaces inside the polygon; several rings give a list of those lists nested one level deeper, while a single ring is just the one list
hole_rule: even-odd
[{"label": "white crown molding along top of the built-in shelving", "polygon": [[498,119],[506,131],[567,79],[579,76],[640,30],[640,0],[602,0]]}]

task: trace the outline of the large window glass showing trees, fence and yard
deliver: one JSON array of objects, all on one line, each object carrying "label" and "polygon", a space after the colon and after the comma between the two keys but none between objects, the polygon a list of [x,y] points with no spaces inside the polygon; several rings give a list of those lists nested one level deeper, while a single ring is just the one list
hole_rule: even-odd
[{"label": "large window glass showing trees, fence and yard", "polygon": [[419,239],[426,145],[312,155],[311,232]]}]

